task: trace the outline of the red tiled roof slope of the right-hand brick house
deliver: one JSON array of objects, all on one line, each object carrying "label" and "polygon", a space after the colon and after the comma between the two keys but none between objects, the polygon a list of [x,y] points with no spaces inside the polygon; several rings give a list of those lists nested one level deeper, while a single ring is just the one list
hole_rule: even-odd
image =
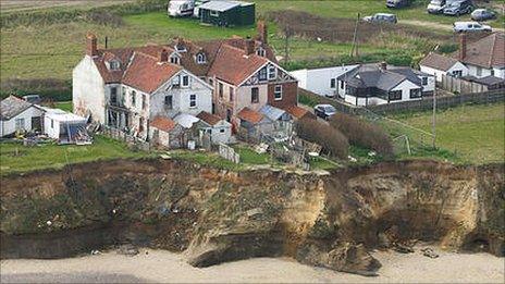
[{"label": "red tiled roof slope of the right-hand brick house", "polygon": [[233,85],[239,85],[266,63],[268,60],[256,55],[256,53],[246,55],[242,49],[222,45],[208,75]]}]

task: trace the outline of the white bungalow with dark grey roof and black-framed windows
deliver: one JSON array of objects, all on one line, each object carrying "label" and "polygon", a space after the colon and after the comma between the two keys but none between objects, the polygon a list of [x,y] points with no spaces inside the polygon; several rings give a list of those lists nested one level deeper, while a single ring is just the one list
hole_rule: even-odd
[{"label": "white bungalow with dark grey roof and black-framed windows", "polygon": [[420,100],[432,96],[434,77],[410,67],[362,64],[336,78],[338,98],[355,106]]}]

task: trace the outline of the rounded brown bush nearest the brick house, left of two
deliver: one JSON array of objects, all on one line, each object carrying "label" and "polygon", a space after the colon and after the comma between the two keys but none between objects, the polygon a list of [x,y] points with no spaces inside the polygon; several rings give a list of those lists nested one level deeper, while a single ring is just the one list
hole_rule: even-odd
[{"label": "rounded brown bush nearest the brick house, left of two", "polygon": [[332,156],[347,159],[349,143],[340,131],[311,119],[299,120],[295,126],[300,138],[321,145]]}]

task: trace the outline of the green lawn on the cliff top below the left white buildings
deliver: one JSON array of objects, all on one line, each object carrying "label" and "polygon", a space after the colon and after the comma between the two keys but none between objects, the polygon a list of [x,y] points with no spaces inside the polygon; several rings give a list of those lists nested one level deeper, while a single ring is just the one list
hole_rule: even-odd
[{"label": "green lawn on the cliff top below the left white buildings", "polygon": [[21,144],[2,143],[0,153],[2,175],[37,169],[62,168],[66,163],[147,156],[145,152],[130,150],[123,143],[102,136],[96,136],[94,144],[87,146],[45,144],[25,147]]}]

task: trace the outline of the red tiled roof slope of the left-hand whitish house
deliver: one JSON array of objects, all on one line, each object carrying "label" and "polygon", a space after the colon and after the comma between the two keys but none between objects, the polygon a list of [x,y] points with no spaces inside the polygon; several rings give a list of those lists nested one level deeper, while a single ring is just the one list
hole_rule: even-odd
[{"label": "red tiled roof slope of the left-hand whitish house", "polygon": [[152,92],[181,70],[180,65],[160,63],[155,57],[135,52],[122,82],[139,90]]}]

